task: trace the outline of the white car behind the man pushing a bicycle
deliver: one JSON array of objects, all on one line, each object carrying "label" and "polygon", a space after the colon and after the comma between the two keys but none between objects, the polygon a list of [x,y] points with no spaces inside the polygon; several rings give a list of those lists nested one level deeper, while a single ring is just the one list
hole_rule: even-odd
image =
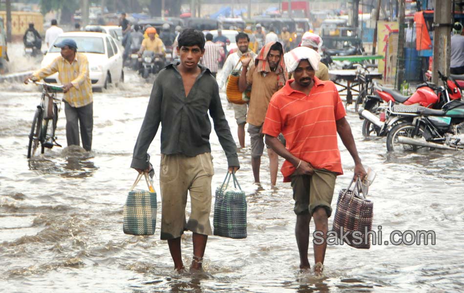
[{"label": "white car behind the man pushing a bicycle", "polygon": [[[69,32],[58,36],[53,44],[63,39],[74,40],[77,43],[77,52],[87,56],[92,88],[106,88],[107,84],[117,85],[124,82],[123,50],[110,35],[94,32]],[[59,56],[61,56],[61,49],[50,46],[43,57],[42,67],[52,63]],[[58,73],[44,80],[49,83],[60,83]]]}]

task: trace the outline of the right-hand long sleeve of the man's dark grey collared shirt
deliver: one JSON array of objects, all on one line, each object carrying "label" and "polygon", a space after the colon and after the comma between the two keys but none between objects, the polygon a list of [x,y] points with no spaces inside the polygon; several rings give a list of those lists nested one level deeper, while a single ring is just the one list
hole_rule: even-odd
[{"label": "right-hand long sleeve of the man's dark grey collared shirt", "polygon": [[222,109],[221,98],[219,97],[219,88],[214,84],[214,94],[210,103],[210,115],[214,123],[214,131],[219,139],[222,149],[226,153],[229,167],[240,167],[237,156],[237,146],[232,138],[229,123],[227,123],[224,110]]}]

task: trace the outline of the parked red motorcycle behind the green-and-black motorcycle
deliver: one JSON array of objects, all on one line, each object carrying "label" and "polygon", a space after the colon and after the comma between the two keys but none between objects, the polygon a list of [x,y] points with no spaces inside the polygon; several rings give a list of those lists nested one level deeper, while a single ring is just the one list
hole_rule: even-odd
[{"label": "parked red motorcycle behind the green-and-black motorcycle", "polygon": [[[441,109],[451,101],[462,98],[461,90],[454,80],[443,76],[439,72],[443,86],[429,82],[420,84],[416,92],[410,96],[403,96],[399,91],[374,84],[376,95],[367,96],[363,106],[359,109],[359,118],[363,119],[362,135],[364,137],[386,136],[389,130],[410,118],[404,115],[396,115],[391,111],[393,104],[420,105],[426,108]],[[388,107],[382,107],[382,102],[388,102]]]}]

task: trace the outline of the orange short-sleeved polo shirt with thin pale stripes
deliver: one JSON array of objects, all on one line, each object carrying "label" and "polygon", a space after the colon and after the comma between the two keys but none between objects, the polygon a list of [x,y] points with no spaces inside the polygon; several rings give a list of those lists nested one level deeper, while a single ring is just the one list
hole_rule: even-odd
[{"label": "orange short-sleeved polo shirt with thin pale stripes", "polygon": [[[287,149],[297,158],[317,169],[343,174],[337,144],[336,121],[346,111],[335,84],[314,78],[309,95],[294,90],[287,81],[269,103],[263,133],[278,136],[282,133]],[[295,167],[285,161],[281,168],[284,182],[290,182]]]}]

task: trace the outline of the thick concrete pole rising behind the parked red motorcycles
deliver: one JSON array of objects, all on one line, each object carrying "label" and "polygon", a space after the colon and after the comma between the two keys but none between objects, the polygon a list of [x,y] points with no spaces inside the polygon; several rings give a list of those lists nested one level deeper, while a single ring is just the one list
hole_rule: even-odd
[{"label": "thick concrete pole rising behind the parked red motorcycles", "polygon": [[[453,25],[449,0],[435,0],[435,13],[433,15],[433,70],[432,83],[438,84],[438,71],[449,75],[449,62],[451,51],[451,26]],[[440,9],[438,9],[440,7]]]}]

